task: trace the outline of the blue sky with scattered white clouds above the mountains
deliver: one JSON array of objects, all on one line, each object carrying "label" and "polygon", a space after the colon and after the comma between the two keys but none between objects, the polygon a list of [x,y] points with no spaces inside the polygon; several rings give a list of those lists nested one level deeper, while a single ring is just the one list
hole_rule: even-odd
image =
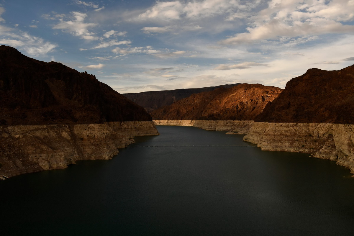
[{"label": "blue sky with scattered white clouds above the mountains", "polygon": [[284,88],[354,64],[354,0],[0,0],[0,45],[119,93]]}]

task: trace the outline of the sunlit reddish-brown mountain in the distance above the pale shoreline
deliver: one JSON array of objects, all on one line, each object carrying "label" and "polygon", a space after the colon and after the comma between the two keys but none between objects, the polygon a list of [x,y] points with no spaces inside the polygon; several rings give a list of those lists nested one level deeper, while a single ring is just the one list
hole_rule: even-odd
[{"label": "sunlit reddish-brown mountain in the distance above the pale shoreline", "polygon": [[192,94],[151,113],[154,120],[253,120],[281,88],[240,84]]}]

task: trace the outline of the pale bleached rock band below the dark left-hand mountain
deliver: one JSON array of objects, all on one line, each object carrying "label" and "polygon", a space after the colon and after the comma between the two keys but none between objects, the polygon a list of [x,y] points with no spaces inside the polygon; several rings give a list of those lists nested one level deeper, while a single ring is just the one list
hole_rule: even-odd
[{"label": "pale bleached rock band below the dark left-hand mountain", "polygon": [[133,137],[158,134],[152,121],[0,126],[0,177],[111,159]]}]

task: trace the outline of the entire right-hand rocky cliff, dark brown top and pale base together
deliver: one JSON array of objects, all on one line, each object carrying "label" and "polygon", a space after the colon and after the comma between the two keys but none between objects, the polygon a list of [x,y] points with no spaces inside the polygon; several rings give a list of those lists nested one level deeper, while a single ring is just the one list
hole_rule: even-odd
[{"label": "entire right-hand rocky cliff, dark brown top and pale base together", "polygon": [[[304,152],[354,174],[354,66],[309,69],[265,106],[245,141],[262,150]],[[353,175],[354,177],[354,175]]]}]

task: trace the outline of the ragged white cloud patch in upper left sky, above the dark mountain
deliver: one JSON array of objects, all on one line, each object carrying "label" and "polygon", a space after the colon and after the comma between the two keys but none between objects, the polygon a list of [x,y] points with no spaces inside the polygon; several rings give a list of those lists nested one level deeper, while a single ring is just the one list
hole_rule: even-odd
[{"label": "ragged white cloud patch in upper left sky, above the dark mountain", "polygon": [[61,29],[64,32],[71,33],[75,36],[79,36],[81,39],[97,40],[98,37],[95,33],[92,33],[88,28],[97,26],[96,23],[84,23],[87,17],[86,13],[72,12],[71,19],[65,20],[62,16],[59,16],[59,23],[54,25],[53,29]]}]

